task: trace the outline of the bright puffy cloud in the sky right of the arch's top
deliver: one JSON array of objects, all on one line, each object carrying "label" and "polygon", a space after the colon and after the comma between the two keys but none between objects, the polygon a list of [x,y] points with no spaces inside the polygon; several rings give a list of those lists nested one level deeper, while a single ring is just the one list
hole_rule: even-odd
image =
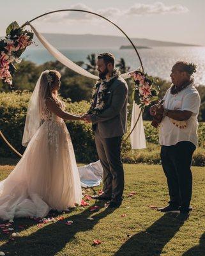
[{"label": "bright puffy cloud in the sky right of the arch's top", "polygon": [[166,6],[164,3],[156,2],[154,4],[135,4],[126,12],[127,15],[151,15],[166,13],[186,13],[188,8],[181,4]]}]

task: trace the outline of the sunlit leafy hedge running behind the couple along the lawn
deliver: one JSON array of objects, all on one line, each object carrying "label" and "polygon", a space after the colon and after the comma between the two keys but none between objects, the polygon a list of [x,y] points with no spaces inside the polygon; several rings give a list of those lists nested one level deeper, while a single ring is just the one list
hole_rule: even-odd
[{"label": "sunlit leafy hedge running behind the couple along the lawn", "polygon": [[[8,138],[11,145],[22,154],[25,150],[21,146],[22,134],[26,119],[27,104],[31,93],[27,91],[17,91],[11,93],[0,93],[0,129],[4,136]],[[66,111],[70,113],[85,113],[89,108],[86,101],[66,102]],[[90,124],[84,122],[66,121],[66,126],[70,132],[78,162],[90,163],[98,159],[95,148],[95,141]],[[130,123],[128,123],[130,126]],[[132,150],[130,141],[126,141],[122,147],[122,157],[124,163],[147,163],[160,164],[160,146],[158,145],[158,131],[144,122],[147,148],[143,150]],[[199,148],[195,150],[193,164],[205,166],[205,123],[199,123]],[[17,155],[0,138],[0,157],[17,157]]]}]

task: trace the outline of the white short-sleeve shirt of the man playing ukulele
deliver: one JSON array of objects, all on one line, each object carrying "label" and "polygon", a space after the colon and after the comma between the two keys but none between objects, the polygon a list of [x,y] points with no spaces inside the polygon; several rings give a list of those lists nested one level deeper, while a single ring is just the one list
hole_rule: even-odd
[{"label": "white short-sleeve shirt of the man playing ukulele", "polygon": [[201,99],[194,83],[188,85],[181,92],[172,95],[171,88],[167,90],[163,97],[163,107],[171,110],[187,110],[192,112],[192,116],[187,120],[186,128],[180,129],[172,124],[168,116],[165,116],[160,124],[159,142],[160,145],[176,145],[179,141],[190,141],[197,147],[197,129],[199,108]]}]

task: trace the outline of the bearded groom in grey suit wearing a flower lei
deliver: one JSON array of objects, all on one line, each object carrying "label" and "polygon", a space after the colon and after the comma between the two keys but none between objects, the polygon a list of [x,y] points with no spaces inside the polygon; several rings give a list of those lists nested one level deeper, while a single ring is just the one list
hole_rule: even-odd
[{"label": "bearded groom in grey suit wearing a flower lei", "polygon": [[121,205],[125,183],[121,141],[126,132],[128,86],[114,69],[112,54],[102,53],[97,58],[99,79],[84,120],[93,125],[96,149],[103,167],[103,193],[93,198],[108,200],[108,207],[113,208]]}]

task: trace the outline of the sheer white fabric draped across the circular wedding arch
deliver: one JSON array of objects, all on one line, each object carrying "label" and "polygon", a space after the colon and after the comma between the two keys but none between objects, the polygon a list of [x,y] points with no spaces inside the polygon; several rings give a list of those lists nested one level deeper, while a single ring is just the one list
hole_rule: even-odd
[{"label": "sheer white fabric draped across the circular wedding arch", "polygon": [[[60,61],[61,63],[63,63],[63,65],[72,69],[73,71],[77,72],[78,74],[80,74],[82,76],[86,76],[91,79],[98,79],[98,76],[91,74],[84,68],[75,64],[73,61],[69,60],[65,55],[63,55],[61,52],[59,52],[54,46],[49,44],[49,42],[38,31],[36,31],[36,29],[33,27],[33,25],[31,25],[29,22],[27,22],[27,25],[31,26],[31,28],[33,29],[33,32],[37,36],[38,40],[40,40],[40,42],[45,47],[45,49],[47,49],[47,51],[49,51],[50,54],[52,56],[54,56],[54,58],[56,58],[56,60]],[[121,77],[123,77],[124,79],[127,79],[130,77],[130,75],[128,73],[125,73],[125,74],[122,74]],[[139,106],[137,106],[137,104],[134,103],[133,110],[132,110],[131,129],[137,120],[139,112],[140,112]],[[131,140],[132,149],[146,148],[142,116],[140,116],[140,119],[139,119],[134,131],[132,132],[130,140]]]}]

